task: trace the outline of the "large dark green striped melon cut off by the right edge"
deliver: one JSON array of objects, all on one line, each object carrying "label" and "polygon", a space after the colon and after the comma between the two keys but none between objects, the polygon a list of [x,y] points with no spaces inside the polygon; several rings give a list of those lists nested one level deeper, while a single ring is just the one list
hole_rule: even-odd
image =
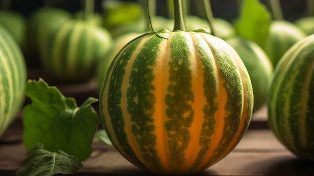
[{"label": "large dark green striped melon cut off by the right edge", "polygon": [[274,70],[268,124],[300,158],[314,161],[314,35],[294,44]]}]

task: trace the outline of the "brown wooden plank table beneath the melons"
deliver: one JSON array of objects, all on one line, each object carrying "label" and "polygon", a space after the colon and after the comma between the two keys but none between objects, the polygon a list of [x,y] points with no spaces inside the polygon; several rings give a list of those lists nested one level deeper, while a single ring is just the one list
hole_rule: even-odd
[{"label": "brown wooden plank table beneath the melons", "polygon": [[[95,88],[93,82],[86,83]],[[86,86],[85,85],[85,86]],[[66,96],[85,99],[97,96],[91,89],[85,94],[71,86],[60,86]],[[86,93],[87,92],[87,93]],[[71,94],[72,93],[72,94]],[[314,175],[314,163],[296,158],[274,137],[266,123],[264,106],[253,114],[249,130],[238,146],[224,159],[210,168],[194,175]],[[26,150],[22,144],[23,125],[21,114],[0,139],[0,176],[15,175],[21,168]],[[133,166],[117,150],[103,142],[92,144],[94,152],[83,162],[84,167],[74,175],[152,175]]]}]

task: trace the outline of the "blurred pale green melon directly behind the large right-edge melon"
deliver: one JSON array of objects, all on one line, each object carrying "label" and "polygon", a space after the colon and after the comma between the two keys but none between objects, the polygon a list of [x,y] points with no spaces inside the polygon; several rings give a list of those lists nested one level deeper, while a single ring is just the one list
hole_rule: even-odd
[{"label": "blurred pale green melon directly behind the large right-edge melon", "polygon": [[262,46],[272,65],[276,67],[282,55],[297,41],[306,37],[304,31],[288,21],[274,20],[270,24],[269,36]]}]

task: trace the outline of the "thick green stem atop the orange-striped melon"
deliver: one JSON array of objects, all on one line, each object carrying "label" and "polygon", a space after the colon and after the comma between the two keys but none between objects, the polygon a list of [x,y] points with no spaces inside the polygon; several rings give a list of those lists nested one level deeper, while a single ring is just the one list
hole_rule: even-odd
[{"label": "thick green stem atop the orange-striped melon", "polygon": [[173,31],[185,31],[184,15],[182,8],[182,0],[174,1],[175,27]]}]

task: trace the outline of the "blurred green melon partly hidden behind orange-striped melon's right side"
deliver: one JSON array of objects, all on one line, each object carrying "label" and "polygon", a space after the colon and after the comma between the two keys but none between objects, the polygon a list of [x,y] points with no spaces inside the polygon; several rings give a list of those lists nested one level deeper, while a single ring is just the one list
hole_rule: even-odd
[{"label": "blurred green melon partly hidden behind orange-striped melon's right side", "polygon": [[249,72],[254,92],[253,112],[255,112],[266,104],[273,65],[265,51],[253,41],[235,36],[227,39],[226,42],[239,54]]}]

